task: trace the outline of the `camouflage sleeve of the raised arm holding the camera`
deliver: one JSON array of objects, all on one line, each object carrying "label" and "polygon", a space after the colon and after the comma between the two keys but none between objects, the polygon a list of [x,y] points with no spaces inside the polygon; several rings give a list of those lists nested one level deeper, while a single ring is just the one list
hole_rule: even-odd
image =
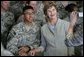
[{"label": "camouflage sleeve of the raised arm holding the camera", "polygon": [[83,45],[83,30],[79,30],[78,28],[81,28],[79,26],[75,27],[77,30],[74,35],[72,36],[71,34],[66,35],[67,38],[65,40],[65,44],[67,46],[79,46]]}]

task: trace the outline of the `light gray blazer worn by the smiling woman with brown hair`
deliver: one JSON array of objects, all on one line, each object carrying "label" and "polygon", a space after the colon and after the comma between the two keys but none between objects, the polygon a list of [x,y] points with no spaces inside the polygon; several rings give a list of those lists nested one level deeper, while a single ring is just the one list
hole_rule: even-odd
[{"label": "light gray blazer worn by the smiling woman with brown hair", "polygon": [[41,28],[41,46],[44,48],[44,56],[67,56],[74,54],[74,49],[64,43],[69,22],[58,19],[54,31],[49,24]]}]

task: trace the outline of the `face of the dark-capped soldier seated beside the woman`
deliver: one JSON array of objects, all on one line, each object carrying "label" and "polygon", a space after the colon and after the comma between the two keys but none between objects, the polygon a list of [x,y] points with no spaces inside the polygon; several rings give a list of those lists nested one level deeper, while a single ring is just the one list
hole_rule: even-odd
[{"label": "face of the dark-capped soldier seated beside the woman", "polygon": [[24,12],[24,18],[25,18],[26,21],[31,23],[34,19],[34,10],[32,10],[32,9],[26,10]]}]

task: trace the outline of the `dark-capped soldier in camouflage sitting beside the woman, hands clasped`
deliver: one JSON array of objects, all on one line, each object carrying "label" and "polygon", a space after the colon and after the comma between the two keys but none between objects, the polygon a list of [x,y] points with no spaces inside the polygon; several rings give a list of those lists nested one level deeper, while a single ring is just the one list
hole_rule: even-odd
[{"label": "dark-capped soldier in camouflage sitting beside the woman, hands clasped", "polygon": [[[28,56],[28,50],[37,48],[40,44],[40,28],[34,22],[34,9],[31,6],[23,8],[24,22],[16,24],[9,33],[11,40],[7,49],[14,55]],[[30,48],[28,48],[30,47]],[[26,49],[26,50],[25,50]]]}]

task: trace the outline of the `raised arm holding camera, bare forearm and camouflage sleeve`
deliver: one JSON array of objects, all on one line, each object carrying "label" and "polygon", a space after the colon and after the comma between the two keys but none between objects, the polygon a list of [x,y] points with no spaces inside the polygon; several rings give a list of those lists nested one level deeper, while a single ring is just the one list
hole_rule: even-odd
[{"label": "raised arm holding camera, bare forearm and camouflage sleeve", "polygon": [[78,46],[83,44],[83,41],[82,41],[83,39],[80,37],[74,38],[74,35],[73,35],[73,29],[77,21],[77,14],[75,12],[72,12],[70,17],[71,17],[71,22],[69,24],[69,27],[66,33],[65,44],[67,46]]}]

